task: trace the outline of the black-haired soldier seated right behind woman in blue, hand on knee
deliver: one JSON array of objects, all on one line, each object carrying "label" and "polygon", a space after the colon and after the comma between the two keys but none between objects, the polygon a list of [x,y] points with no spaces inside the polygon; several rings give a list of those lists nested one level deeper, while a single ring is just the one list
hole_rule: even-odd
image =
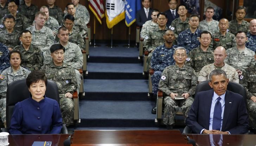
[{"label": "black-haired soldier seated right behind woman in blue, hand on knee", "polygon": [[54,81],[59,89],[60,111],[63,124],[67,126],[73,121],[74,103],[73,92],[77,89],[75,69],[63,62],[65,48],[60,44],[53,44],[50,48],[52,62],[41,67],[47,79]]}]

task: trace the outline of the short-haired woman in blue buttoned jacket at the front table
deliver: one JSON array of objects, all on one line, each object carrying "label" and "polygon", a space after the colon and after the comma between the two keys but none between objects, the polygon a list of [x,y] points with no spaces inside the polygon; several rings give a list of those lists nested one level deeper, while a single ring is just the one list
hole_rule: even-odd
[{"label": "short-haired woman in blue buttoned jacket at the front table", "polygon": [[26,84],[31,97],[14,106],[10,134],[59,134],[62,118],[56,100],[45,97],[47,78],[40,70],[32,71]]}]

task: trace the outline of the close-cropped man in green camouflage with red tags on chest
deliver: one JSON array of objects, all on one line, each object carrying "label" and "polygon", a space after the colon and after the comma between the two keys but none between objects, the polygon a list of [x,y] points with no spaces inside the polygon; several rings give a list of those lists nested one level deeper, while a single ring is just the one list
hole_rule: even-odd
[{"label": "close-cropped man in green camouflage with red tags on chest", "polygon": [[219,20],[219,32],[213,34],[210,47],[217,48],[219,46],[229,49],[236,46],[236,37],[232,33],[228,32],[229,21],[222,18]]}]

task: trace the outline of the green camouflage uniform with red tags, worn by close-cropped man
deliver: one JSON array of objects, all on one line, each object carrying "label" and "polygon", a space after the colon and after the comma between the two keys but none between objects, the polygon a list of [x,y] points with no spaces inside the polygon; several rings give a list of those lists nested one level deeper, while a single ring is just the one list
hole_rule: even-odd
[{"label": "green camouflage uniform with red tags, worn by close-cropped man", "polygon": [[230,32],[226,32],[226,35],[222,35],[220,32],[217,32],[213,34],[212,38],[211,44],[209,45],[211,48],[215,49],[222,46],[225,49],[229,49],[236,46],[236,36]]}]

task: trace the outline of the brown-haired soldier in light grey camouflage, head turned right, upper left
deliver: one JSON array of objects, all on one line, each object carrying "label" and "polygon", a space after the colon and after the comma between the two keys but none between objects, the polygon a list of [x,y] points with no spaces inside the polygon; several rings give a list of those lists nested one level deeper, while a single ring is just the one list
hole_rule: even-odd
[{"label": "brown-haired soldier in light grey camouflage, head turned right, upper left", "polygon": [[44,26],[46,15],[44,12],[37,12],[35,18],[35,25],[28,27],[32,34],[32,45],[41,49],[45,52],[49,50],[50,46],[54,43],[54,35],[50,28]]}]

